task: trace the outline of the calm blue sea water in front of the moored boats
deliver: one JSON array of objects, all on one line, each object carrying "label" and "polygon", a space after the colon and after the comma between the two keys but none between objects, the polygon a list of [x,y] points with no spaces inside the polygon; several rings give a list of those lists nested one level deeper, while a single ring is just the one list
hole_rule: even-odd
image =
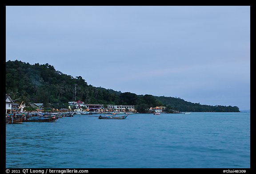
[{"label": "calm blue sea water in front of the moored boats", "polygon": [[6,124],[6,168],[250,168],[250,113]]}]

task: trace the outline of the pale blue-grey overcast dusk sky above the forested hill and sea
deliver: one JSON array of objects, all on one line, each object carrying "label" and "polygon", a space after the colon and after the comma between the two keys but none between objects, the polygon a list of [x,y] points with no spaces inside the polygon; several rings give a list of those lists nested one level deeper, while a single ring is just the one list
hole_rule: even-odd
[{"label": "pale blue-grey overcast dusk sky above the forested hill and sea", "polygon": [[250,109],[250,6],[6,6],[6,61]]}]

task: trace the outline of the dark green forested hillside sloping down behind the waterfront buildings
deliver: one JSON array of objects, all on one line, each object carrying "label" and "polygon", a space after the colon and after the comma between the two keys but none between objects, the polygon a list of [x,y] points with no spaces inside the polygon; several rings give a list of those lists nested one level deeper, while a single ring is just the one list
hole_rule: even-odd
[{"label": "dark green forested hillside sloping down behind the waterfront buildings", "polygon": [[48,63],[30,65],[18,60],[6,62],[5,92],[16,103],[44,103],[45,108],[67,108],[68,101],[81,100],[86,104],[135,105],[138,112],[147,112],[147,108],[161,105],[180,112],[239,112],[236,106],[201,105],[180,98],[121,93],[94,87],[81,76],[61,73]]}]

